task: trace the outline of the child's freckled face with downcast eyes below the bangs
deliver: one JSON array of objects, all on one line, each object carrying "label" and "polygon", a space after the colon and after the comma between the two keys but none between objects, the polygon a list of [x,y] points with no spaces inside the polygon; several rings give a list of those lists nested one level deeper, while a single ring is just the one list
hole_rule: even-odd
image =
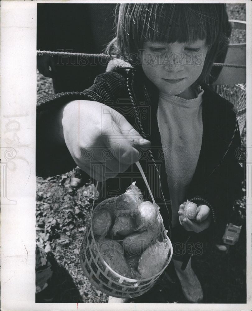
[{"label": "child's freckled face with downcast eyes below the bangs", "polygon": [[205,40],[193,44],[145,42],[141,50],[143,72],[159,91],[194,98],[190,86],[202,72],[207,50]]}]

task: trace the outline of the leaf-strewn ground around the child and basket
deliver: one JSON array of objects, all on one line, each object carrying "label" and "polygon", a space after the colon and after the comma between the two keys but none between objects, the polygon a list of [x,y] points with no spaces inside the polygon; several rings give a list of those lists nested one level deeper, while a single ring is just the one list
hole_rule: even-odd
[{"label": "leaf-strewn ground around the child and basket", "polygon": [[[245,5],[229,5],[230,18],[245,20]],[[246,41],[244,30],[235,30],[232,43]],[[38,96],[53,93],[51,79],[38,73]],[[245,144],[245,135],[243,137]],[[53,276],[49,286],[36,295],[36,302],[57,303],[105,303],[108,296],[96,290],[86,277],[79,263],[79,246],[88,225],[91,204],[94,200],[94,185],[86,180],[83,187],[72,189],[72,172],[50,177],[37,178],[36,243],[44,249],[52,263]],[[244,189],[245,190],[245,189]],[[223,228],[215,232],[214,243],[207,243],[203,255],[194,256],[193,266],[204,291],[204,303],[245,303],[246,301],[246,223],[245,198],[237,202],[231,221],[242,225],[239,242],[221,252]],[[160,280],[158,293],[160,302],[186,302],[179,282]],[[159,297],[158,296],[158,297]],[[167,298],[167,299],[166,299]],[[138,302],[148,301],[148,295]]]}]

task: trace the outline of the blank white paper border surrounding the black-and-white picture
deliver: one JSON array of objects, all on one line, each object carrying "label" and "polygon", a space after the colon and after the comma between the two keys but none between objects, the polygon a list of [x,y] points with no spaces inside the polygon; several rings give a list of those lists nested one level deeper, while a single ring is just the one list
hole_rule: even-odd
[{"label": "blank white paper border surrounding the black-and-white picture", "polygon": [[[2,310],[251,310],[251,208],[247,208],[247,304],[38,304],[35,303],[35,124],[37,3],[164,1],[1,1],[1,309]],[[247,38],[252,38],[252,2],[246,3]],[[251,40],[247,40],[247,84],[252,85]],[[252,120],[251,87],[247,119]],[[247,122],[247,148],[252,148]],[[18,141],[19,144],[14,144]],[[248,149],[252,150],[252,149]],[[4,159],[11,160],[7,174]],[[248,152],[252,163],[252,152]],[[5,179],[4,179],[5,178]],[[251,178],[251,177],[250,177]],[[247,183],[250,186],[250,183]],[[249,189],[248,189],[249,190]],[[247,207],[252,204],[251,189]]]}]

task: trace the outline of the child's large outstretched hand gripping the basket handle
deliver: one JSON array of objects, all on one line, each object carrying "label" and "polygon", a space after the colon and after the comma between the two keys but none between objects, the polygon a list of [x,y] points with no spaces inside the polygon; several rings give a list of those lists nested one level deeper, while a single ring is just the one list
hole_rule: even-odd
[{"label": "child's large outstretched hand gripping the basket handle", "polygon": [[69,102],[58,124],[62,143],[75,163],[99,181],[124,172],[140,159],[137,149],[150,145],[123,115],[95,101]]}]

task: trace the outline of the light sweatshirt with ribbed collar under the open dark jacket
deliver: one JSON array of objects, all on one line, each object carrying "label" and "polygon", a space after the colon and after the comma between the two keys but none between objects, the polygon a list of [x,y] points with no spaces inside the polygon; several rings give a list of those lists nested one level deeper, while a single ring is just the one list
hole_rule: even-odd
[{"label": "light sweatshirt with ribbed collar under the open dark jacket", "polygon": [[186,100],[160,92],[157,121],[165,155],[166,174],[172,208],[172,226],[179,224],[179,206],[191,182],[202,144],[202,95],[200,86],[197,97]]}]

